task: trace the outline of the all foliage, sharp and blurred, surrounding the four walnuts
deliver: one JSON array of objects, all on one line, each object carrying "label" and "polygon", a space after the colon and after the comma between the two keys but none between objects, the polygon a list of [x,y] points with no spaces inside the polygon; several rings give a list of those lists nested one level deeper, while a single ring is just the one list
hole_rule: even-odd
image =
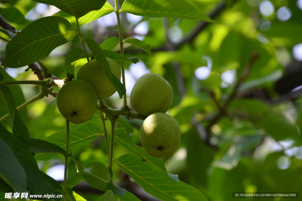
[{"label": "all foliage, sharp and blurred, surrounding the four walnuts", "polygon": [[[251,0],[2,2],[0,197],[193,201],[299,192],[302,93],[293,89],[302,85],[295,67],[301,63],[291,54],[302,41],[296,1],[270,0],[276,12],[269,16],[263,1]],[[54,8],[60,11],[50,13]],[[282,20],[281,8],[291,11],[289,19]],[[119,62],[122,80],[106,57]],[[99,100],[88,122],[66,124],[57,92],[92,59],[117,94]],[[172,86],[168,113],[181,129],[180,147],[163,159],[141,147],[146,117],[129,103],[134,82],[148,72]],[[281,92],[278,83],[287,77]],[[64,163],[59,185],[46,173]],[[76,188],[83,182],[102,194]]]}]

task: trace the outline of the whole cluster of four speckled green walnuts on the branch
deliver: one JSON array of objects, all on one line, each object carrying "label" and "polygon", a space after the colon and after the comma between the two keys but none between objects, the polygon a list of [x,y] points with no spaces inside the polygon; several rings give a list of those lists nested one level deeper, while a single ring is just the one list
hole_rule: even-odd
[{"label": "whole cluster of four speckled green walnuts on the branch", "polygon": [[[107,58],[112,73],[121,77],[119,64]],[[74,124],[87,122],[95,114],[97,100],[116,92],[98,62],[94,59],[83,65],[77,79],[67,82],[59,91],[57,105],[61,114]],[[135,83],[130,102],[133,109],[147,117],[140,127],[140,141],[145,151],[156,158],[173,154],[180,143],[177,121],[166,114],[172,102],[172,87],[160,75],[148,73]]]}]

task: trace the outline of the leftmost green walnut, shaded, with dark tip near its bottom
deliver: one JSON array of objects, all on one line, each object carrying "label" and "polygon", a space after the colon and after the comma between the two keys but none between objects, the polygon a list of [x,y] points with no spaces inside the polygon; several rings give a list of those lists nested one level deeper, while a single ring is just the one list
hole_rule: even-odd
[{"label": "leftmost green walnut, shaded, with dark tip near its bottom", "polygon": [[92,85],[84,80],[66,83],[58,92],[57,105],[69,122],[81,124],[92,118],[98,99]]}]

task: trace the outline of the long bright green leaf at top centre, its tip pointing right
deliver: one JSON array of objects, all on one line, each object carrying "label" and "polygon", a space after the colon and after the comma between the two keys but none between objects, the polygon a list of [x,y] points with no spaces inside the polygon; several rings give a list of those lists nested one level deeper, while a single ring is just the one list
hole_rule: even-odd
[{"label": "long bright green leaf at top centre, its tip pointing right", "polygon": [[185,0],[126,0],[121,11],[147,18],[181,18],[214,22]]}]

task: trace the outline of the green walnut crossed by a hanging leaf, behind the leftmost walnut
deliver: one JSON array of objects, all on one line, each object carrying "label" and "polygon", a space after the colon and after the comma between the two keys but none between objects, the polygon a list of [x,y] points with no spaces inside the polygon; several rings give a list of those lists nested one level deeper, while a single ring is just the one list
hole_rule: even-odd
[{"label": "green walnut crossed by a hanging leaf, behind the leftmost walnut", "polygon": [[[110,65],[111,72],[117,77],[117,79],[120,79],[120,65],[109,57],[106,57],[106,59]],[[80,68],[77,74],[77,79],[89,82],[95,89],[98,100],[106,99],[116,92],[116,89],[111,84],[96,59],[85,63],[85,65]]]}]

